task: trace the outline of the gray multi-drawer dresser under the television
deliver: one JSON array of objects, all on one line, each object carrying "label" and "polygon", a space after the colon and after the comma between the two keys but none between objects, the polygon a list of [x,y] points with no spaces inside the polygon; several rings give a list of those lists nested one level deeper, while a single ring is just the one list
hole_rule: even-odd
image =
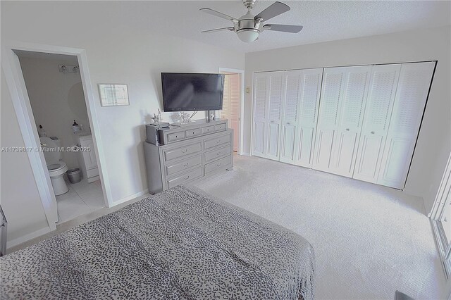
[{"label": "gray multi-drawer dresser under the television", "polygon": [[198,120],[159,130],[161,145],[144,142],[149,192],[202,180],[233,168],[233,130],[227,120]]}]

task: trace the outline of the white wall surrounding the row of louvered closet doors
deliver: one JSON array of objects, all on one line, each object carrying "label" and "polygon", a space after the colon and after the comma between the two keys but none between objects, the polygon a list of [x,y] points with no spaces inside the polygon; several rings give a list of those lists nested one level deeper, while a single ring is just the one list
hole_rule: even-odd
[{"label": "white wall surrounding the row of louvered closet doors", "polygon": [[[245,56],[246,87],[257,71],[437,60],[405,191],[431,210],[451,149],[450,26],[258,51]],[[250,151],[252,89],[245,99],[245,152]]]}]

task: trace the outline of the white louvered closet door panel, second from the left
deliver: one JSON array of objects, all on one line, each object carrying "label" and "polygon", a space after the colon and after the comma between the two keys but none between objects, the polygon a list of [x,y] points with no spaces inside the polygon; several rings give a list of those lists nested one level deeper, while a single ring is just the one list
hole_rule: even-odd
[{"label": "white louvered closet door panel, second from the left", "polygon": [[267,139],[265,143],[265,157],[279,160],[280,124],[282,113],[282,96],[284,72],[268,73],[268,119],[266,123]]}]

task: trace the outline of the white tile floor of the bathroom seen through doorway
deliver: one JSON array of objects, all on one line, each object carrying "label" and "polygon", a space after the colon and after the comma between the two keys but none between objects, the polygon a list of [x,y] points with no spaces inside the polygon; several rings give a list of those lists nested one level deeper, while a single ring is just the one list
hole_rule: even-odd
[{"label": "white tile floor of the bathroom seen through doorway", "polygon": [[58,208],[58,223],[63,223],[79,215],[85,215],[105,206],[104,194],[100,180],[88,183],[82,180],[78,183],[66,182],[69,191],[56,196]]}]

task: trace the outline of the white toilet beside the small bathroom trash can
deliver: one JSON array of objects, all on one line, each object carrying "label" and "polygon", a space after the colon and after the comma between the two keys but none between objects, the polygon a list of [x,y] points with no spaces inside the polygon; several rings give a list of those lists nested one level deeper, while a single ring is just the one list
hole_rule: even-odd
[{"label": "white toilet beside the small bathroom trash can", "polygon": [[64,181],[63,175],[68,170],[64,161],[60,161],[61,141],[57,137],[40,137],[42,151],[44,151],[47,170],[49,170],[51,185],[54,187],[55,196],[68,192],[69,188]]}]

